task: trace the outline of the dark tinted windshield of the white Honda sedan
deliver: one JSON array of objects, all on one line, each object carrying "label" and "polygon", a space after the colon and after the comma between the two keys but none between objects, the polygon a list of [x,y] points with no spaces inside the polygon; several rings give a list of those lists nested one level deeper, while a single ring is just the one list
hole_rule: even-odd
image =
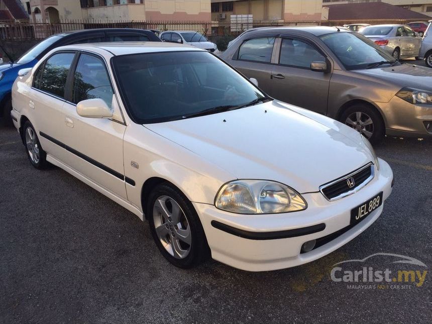
[{"label": "dark tinted windshield of the white Honda sedan", "polygon": [[138,124],[218,113],[222,107],[229,110],[266,98],[208,52],[122,55],[113,59],[113,67],[128,112]]}]

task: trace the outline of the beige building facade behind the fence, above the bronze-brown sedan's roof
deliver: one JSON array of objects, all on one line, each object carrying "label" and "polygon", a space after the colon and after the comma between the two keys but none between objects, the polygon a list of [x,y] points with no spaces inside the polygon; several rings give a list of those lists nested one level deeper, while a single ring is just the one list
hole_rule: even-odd
[{"label": "beige building facade behind the fence, above the bronze-brown sedan's roof", "polygon": [[211,0],[211,20],[252,15],[252,20],[320,21],[322,0]]}]

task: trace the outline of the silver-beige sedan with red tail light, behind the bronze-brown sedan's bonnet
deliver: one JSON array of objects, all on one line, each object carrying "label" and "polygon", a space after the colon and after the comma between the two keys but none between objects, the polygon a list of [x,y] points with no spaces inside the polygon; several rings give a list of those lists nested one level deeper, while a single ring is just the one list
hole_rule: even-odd
[{"label": "silver-beige sedan with red tail light, behind the bronze-brown sedan's bonnet", "polygon": [[406,25],[374,25],[365,27],[360,34],[397,60],[417,57],[421,46],[421,37]]}]

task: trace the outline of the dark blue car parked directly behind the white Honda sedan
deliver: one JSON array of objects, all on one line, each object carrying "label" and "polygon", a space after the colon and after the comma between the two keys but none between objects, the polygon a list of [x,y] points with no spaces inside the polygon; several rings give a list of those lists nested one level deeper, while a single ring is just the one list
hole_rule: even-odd
[{"label": "dark blue car parked directly behind the white Honda sedan", "polygon": [[161,40],[151,31],[129,28],[102,28],[65,32],[46,38],[32,47],[16,62],[0,65],[0,123],[11,123],[11,89],[18,71],[33,67],[46,53],[53,48],[78,43],[100,42],[134,42]]}]

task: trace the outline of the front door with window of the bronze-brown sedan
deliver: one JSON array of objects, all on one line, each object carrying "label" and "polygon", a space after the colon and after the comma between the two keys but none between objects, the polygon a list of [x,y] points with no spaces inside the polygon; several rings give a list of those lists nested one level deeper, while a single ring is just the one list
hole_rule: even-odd
[{"label": "front door with window of the bronze-brown sedan", "polygon": [[326,115],[332,74],[312,71],[310,63],[316,61],[330,64],[312,41],[282,36],[277,65],[272,65],[270,94],[276,99]]}]

